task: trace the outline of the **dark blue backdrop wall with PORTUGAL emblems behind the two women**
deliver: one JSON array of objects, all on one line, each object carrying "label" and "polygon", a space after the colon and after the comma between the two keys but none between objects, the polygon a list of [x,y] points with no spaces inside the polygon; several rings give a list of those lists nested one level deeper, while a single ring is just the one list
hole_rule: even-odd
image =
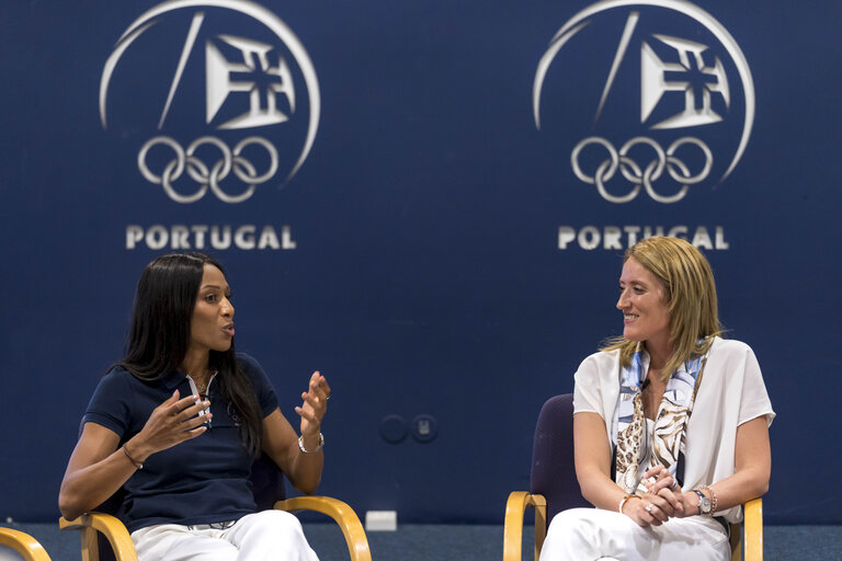
[{"label": "dark blue backdrop wall with PORTUGAL emblems behind the two women", "polygon": [[329,378],[320,492],[501,523],[664,232],[763,368],[766,522],[839,524],[840,5],[4,2],[0,516],[58,516],[139,273],[190,248],[292,421]]}]

